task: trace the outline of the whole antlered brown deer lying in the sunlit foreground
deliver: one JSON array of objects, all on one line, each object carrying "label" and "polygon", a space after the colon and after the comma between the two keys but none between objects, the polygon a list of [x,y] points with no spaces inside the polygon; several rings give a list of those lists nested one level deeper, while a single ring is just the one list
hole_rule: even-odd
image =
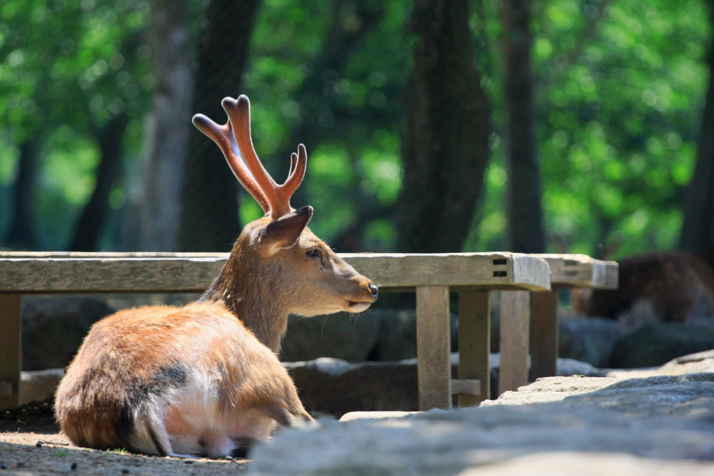
[{"label": "whole antlered brown deer lying in the sunlit foreground", "polygon": [[358,313],[377,298],[371,280],[307,228],[313,209],[290,206],[305,147],[276,184],[253,149],[248,98],[222,105],[225,125],[200,114],[193,123],[266,216],[243,229],[198,302],[122,310],[91,328],[56,393],[57,420],[76,445],[220,457],[276,424],[311,422],[275,354],[288,314]]}]

